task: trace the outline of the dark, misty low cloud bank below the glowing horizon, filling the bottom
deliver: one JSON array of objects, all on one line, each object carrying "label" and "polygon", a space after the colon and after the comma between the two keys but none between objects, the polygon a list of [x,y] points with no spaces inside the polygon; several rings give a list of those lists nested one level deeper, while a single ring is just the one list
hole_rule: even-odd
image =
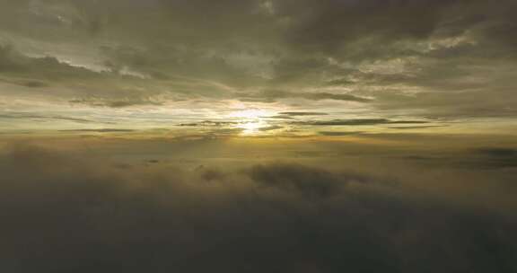
[{"label": "dark, misty low cloud bank below the glowing horizon, filling the bottom", "polygon": [[297,164],[120,169],[91,156],[18,145],[0,160],[4,269],[515,270],[510,220],[404,198],[393,181]]}]

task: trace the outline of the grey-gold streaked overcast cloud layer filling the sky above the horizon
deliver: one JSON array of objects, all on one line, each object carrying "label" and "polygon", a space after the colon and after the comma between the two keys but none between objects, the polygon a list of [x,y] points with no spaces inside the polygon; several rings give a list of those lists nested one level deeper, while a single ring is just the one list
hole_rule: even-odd
[{"label": "grey-gold streaked overcast cloud layer filling the sky above the horizon", "polygon": [[[0,7],[0,107],[8,115],[56,111],[97,127],[161,128],[250,108],[506,124],[516,114],[513,0]],[[85,128],[57,121],[44,128]],[[1,118],[0,126],[31,128],[33,120]]]}]

